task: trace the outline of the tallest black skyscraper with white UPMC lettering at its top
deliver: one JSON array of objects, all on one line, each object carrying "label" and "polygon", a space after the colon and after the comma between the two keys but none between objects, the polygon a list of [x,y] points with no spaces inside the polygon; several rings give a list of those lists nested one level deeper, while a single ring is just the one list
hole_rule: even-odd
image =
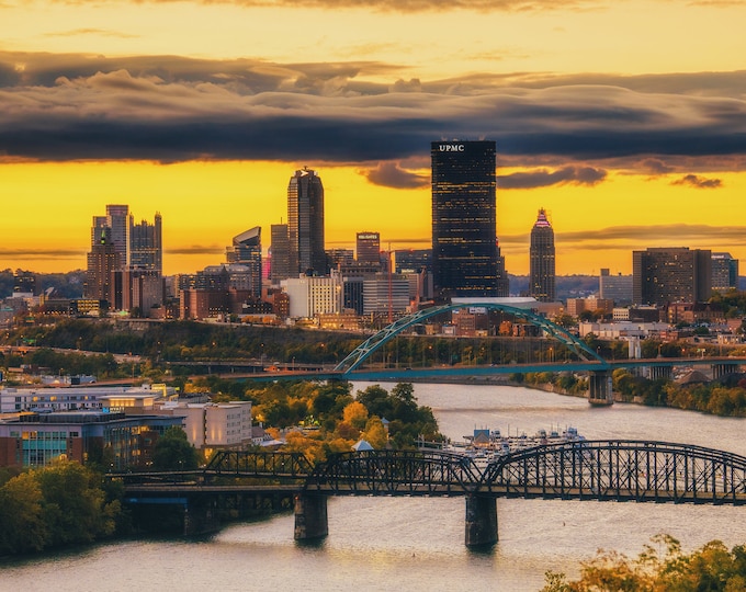
[{"label": "tallest black skyscraper with white UPMC lettering at its top", "polygon": [[433,141],[431,156],[436,293],[442,298],[502,296],[495,143]]}]

